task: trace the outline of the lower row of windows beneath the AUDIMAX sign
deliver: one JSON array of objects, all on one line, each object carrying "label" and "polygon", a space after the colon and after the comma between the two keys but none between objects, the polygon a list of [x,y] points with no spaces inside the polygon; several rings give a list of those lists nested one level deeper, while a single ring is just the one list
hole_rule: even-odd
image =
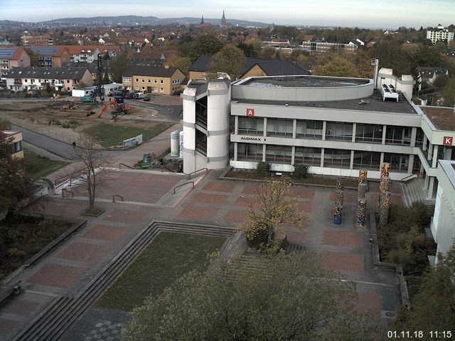
[{"label": "lower row of windows beneath the AUDIMAX sign", "polygon": [[[237,144],[237,160],[262,161],[262,144]],[[295,147],[294,165],[321,166],[322,148]],[[381,153],[354,151],[353,168],[377,171],[380,167]],[[265,146],[265,161],[269,163],[291,164],[291,146]],[[323,167],[350,168],[351,151],[347,149],[324,148]],[[390,163],[392,171],[407,173],[409,156],[407,154],[384,153],[384,161]]]}]

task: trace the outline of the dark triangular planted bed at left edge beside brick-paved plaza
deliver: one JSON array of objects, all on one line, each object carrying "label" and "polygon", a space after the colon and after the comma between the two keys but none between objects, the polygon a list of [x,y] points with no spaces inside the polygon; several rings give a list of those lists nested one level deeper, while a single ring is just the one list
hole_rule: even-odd
[{"label": "dark triangular planted bed at left edge beside brick-paved plaza", "polygon": [[72,226],[63,220],[11,216],[0,221],[0,279]]}]

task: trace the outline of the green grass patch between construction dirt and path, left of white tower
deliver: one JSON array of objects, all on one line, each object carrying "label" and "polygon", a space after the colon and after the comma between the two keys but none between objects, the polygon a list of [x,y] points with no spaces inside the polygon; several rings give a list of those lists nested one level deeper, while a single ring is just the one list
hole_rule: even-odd
[{"label": "green grass patch between construction dirt and path, left of white tower", "polygon": [[85,133],[95,136],[103,147],[122,146],[123,141],[142,134],[143,141],[149,141],[156,135],[171,127],[172,124],[157,123],[146,128],[122,126],[119,124],[99,123],[84,130]]}]

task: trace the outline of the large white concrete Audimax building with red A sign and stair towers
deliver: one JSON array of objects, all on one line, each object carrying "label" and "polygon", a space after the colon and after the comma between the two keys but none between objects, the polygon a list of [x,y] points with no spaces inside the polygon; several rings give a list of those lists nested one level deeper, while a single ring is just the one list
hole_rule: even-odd
[{"label": "large white concrete Audimax building with red A sign and stair towers", "polygon": [[[452,108],[417,107],[413,80],[381,69],[374,80],[320,76],[192,80],[183,92],[183,171],[252,169],[380,178],[415,174],[435,197],[437,161],[455,160]],[[452,119],[450,119],[450,117]]]}]

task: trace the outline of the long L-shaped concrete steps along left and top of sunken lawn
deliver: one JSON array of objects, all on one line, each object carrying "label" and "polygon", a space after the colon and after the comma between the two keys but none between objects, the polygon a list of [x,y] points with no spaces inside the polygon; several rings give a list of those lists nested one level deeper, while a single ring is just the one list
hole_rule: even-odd
[{"label": "long L-shaped concrete steps along left and top of sunken lawn", "polygon": [[90,281],[76,296],[56,297],[34,320],[26,325],[14,341],[57,341],[70,326],[97,301],[101,293],[120,276],[129,264],[136,259],[147,245],[161,231],[201,234],[211,237],[230,237],[233,229],[202,224],[183,224],[178,222],[152,222],[132,239],[100,274]]}]

